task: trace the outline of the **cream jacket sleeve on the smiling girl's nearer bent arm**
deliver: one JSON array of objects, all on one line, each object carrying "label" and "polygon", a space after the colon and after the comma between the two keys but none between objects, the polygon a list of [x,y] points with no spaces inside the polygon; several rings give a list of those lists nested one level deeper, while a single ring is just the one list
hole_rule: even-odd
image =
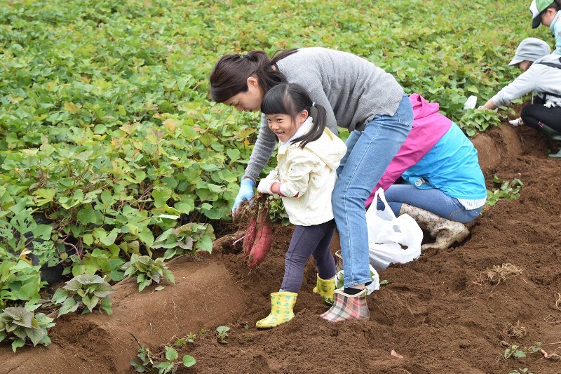
[{"label": "cream jacket sleeve on the smiling girl's nearer bent arm", "polygon": [[286,197],[302,197],[308,189],[310,173],[318,163],[318,156],[307,149],[292,149],[286,182],[280,184],[280,193]]}]

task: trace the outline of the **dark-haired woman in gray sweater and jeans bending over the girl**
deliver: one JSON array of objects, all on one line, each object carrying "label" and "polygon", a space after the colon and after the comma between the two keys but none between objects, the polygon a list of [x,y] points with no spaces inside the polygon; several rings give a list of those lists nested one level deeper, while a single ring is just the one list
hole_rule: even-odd
[{"label": "dark-haired woman in gray sweater and jeans bending over the girl", "polygon": [[[210,73],[216,102],[255,111],[269,88],[282,82],[304,86],[311,100],[327,110],[326,126],[348,128],[347,152],[337,169],[332,194],[341,239],[344,289],[322,314],[329,321],[367,319],[364,287],[370,281],[365,201],[410,132],[410,100],[391,74],[363,58],[327,48],[283,51],[272,59],[263,51],[224,55]],[[238,204],[253,196],[259,176],[276,146],[276,135],[262,116],[257,142],[241,181]]]}]

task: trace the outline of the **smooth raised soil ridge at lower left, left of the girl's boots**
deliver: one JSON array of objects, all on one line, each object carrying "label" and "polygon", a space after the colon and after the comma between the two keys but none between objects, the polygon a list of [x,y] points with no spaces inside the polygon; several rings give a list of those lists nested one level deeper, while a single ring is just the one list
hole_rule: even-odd
[{"label": "smooth raised soil ridge at lower left, left of the girl's boots", "polygon": [[[112,314],[66,314],[49,330],[53,344],[0,347],[1,373],[129,373],[139,348],[158,347],[205,326],[237,318],[243,295],[223,266],[177,258],[168,263],[175,286],[138,292],[135,280],[116,284]],[[201,292],[203,290],[203,292]],[[135,338],[133,338],[133,335]]]}]

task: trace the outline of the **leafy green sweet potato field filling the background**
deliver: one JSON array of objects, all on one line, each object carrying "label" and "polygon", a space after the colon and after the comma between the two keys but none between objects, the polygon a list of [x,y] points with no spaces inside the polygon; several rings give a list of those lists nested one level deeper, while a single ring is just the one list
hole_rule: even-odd
[{"label": "leafy green sweet potato field filling the background", "polygon": [[522,1],[3,1],[0,309],[39,299],[43,264],[118,281],[134,253],[210,251],[257,133],[208,99],[222,54],[356,53],[473,135],[498,115],[464,101],[527,36],[549,40]]}]

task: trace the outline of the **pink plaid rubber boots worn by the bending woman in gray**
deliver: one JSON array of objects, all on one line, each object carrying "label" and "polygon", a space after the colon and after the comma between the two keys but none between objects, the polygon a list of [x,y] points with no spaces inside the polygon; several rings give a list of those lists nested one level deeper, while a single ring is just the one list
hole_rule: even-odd
[{"label": "pink plaid rubber boots worn by the bending woman in gray", "polygon": [[321,318],[330,322],[347,321],[349,319],[367,320],[370,311],[366,305],[366,289],[356,295],[349,295],[339,288],[333,293],[333,306],[327,312],[321,314]]}]

